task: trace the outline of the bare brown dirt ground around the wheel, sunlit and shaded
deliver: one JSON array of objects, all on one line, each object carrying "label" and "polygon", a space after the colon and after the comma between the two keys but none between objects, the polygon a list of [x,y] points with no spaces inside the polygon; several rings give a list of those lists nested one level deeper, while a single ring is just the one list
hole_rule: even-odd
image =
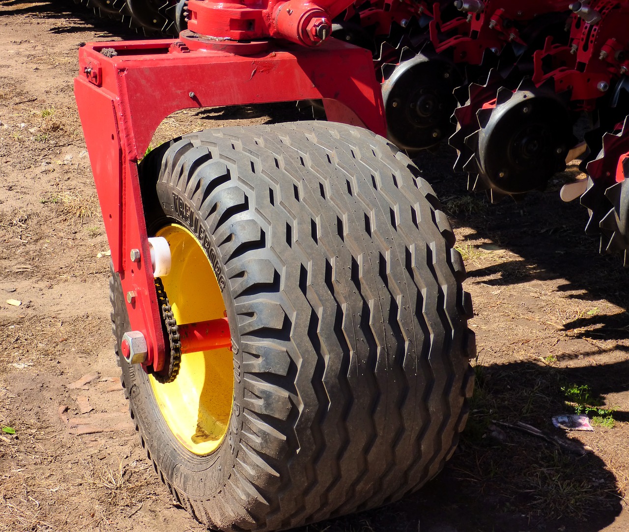
[{"label": "bare brown dirt ground around the wheel, sunlit and shaded", "polygon": [[[81,42],[133,36],[71,1],[0,0],[0,531],[204,529],[159,482],[128,416],[72,92]],[[293,111],[179,113],[155,143],[278,113]],[[626,531],[626,270],[584,235],[585,209],[559,199],[575,165],[546,192],[490,205],[465,192],[453,158],[443,147],[417,162],[452,216],[476,310],[459,449],[413,496],[299,532]],[[596,409],[593,432],[552,426],[574,404]]]}]

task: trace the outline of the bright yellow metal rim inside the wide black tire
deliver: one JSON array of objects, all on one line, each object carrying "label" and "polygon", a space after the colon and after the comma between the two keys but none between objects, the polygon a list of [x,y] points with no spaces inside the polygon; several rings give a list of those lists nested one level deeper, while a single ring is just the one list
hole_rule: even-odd
[{"label": "bright yellow metal rim inside the wide black tire", "polygon": [[[172,267],[162,282],[177,323],[223,318],[223,296],[199,241],[177,224],[166,226],[157,236],[170,245]],[[225,438],[233,404],[231,351],[186,353],[174,382],[160,384],[152,376],[149,379],[175,438],[196,455],[214,452]]]}]

